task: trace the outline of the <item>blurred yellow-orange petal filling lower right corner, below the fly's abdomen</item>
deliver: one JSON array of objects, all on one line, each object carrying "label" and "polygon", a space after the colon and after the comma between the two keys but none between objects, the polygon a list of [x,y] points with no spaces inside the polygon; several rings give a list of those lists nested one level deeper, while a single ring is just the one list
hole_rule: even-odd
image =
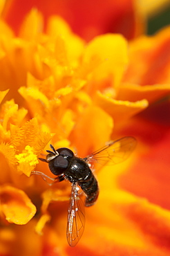
[{"label": "blurred yellow-orange petal filling lower right corner, below the fly's abdomen", "polygon": [[[169,255],[168,211],[132,194],[107,188],[101,190],[96,205],[86,212],[84,237],[76,248],[71,248],[73,254],[83,250],[95,255],[100,250],[100,255]],[[70,248],[67,252],[71,253]]]}]

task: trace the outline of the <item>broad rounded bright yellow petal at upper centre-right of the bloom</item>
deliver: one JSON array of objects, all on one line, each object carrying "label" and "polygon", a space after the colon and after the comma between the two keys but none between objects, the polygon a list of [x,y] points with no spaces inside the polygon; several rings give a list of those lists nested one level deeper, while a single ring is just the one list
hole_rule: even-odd
[{"label": "broad rounded bright yellow petal at upper centre-right of the bloom", "polygon": [[124,37],[107,34],[96,37],[86,46],[82,66],[86,64],[88,68],[93,68],[89,69],[89,74],[95,82],[101,83],[110,76],[112,85],[116,87],[120,84],[127,63],[127,43]]}]

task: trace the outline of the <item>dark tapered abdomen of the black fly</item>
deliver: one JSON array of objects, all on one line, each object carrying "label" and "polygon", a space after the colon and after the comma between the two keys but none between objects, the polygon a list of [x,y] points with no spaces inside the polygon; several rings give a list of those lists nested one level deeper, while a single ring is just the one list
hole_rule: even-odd
[{"label": "dark tapered abdomen of the black fly", "polygon": [[95,179],[95,176],[91,174],[91,178],[88,179],[88,181],[81,182],[78,184],[86,194],[86,207],[93,205],[99,195],[99,187],[97,184],[97,180]]}]

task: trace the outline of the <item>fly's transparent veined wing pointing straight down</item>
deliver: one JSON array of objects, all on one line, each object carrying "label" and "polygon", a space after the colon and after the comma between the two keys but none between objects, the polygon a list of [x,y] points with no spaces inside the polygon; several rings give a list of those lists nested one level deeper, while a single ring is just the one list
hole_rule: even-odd
[{"label": "fly's transparent veined wing pointing straight down", "polygon": [[67,220],[67,241],[70,246],[75,246],[82,237],[85,225],[84,201],[79,196],[79,188],[73,183],[70,195]]}]

